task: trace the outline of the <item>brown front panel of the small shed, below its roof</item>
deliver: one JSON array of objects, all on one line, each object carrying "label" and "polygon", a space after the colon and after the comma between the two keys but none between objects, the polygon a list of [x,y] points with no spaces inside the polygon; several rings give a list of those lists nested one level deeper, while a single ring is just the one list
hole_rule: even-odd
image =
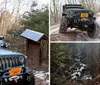
[{"label": "brown front panel of the small shed, below its roof", "polygon": [[27,57],[28,57],[28,66],[32,69],[39,67],[40,61],[40,44],[28,40],[27,43]]}]

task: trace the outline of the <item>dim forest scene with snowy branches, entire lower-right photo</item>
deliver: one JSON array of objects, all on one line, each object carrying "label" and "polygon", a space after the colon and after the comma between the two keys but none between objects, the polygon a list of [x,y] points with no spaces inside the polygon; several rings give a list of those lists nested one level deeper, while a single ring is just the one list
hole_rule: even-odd
[{"label": "dim forest scene with snowy branches, entire lower-right photo", "polygon": [[51,85],[99,85],[99,43],[52,43]]}]

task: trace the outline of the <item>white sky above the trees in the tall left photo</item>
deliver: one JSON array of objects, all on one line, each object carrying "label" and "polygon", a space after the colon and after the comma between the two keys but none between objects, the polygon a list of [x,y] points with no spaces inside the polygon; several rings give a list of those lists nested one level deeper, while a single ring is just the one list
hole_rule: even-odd
[{"label": "white sky above the trees in the tall left photo", "polygon": [[[0,11],[4,8],[4,3],[1,5],[2,2],[6,0],[0,0]],[[7,4],[7,10],[10,10],[12,12],[12,9],[18,8],[18,2],[21,2],[20,6],[20,13],[24,13],[25,11],[30,10],[30,6],[32,4],[32,1],[36,1],[38,3],[38,8],[41,8],[41,6],[44,4],[49,4],[49,0],[7,0],[9,1]]]}]

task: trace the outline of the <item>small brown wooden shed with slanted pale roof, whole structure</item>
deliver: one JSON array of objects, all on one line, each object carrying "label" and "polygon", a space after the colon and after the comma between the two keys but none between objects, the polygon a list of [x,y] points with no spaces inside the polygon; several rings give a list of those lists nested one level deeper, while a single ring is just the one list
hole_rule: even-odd
[{"label": "small brown wooden shed with slanted pale roof, whole structure", "polygon": [[26,29],[21,36],[26,38],[27,64],[30,68],[36,69],[41,66],[43,57],[48,56],[48,37],[44,33],[29,29]]}]

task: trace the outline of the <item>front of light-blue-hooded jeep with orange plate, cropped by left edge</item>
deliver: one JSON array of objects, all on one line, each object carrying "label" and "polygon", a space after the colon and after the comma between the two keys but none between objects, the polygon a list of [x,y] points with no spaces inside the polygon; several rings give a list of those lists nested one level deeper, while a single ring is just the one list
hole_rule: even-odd
[{"label": "front of light-blue-hooded jeep with orange plate, cropped by left edge", "polygon": [[0,48],[0,85],[35,85],[25,55]]}]

